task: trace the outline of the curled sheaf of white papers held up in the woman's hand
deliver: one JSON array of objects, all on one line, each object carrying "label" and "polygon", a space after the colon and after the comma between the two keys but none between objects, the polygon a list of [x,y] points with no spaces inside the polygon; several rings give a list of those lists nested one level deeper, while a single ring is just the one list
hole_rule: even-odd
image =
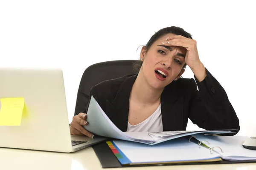
[{"label": "curled sheaf of white papers held up in the woman's hand", "polygon": [[[105,112],[102,110],[102,108],[99,106],[95,98],[93,98],[93,96],[91,96],[90,104],[87,111],[87,121],[89,122],[89,124],[87,126],[84,126],[84,128],[89,132],[93,133],[94,135],[100,135],[108,138],[116,138],[126,141],[137,141],[150,145],[198,133],[230,133],[230,131],[228,130],[166,131],[150,134],[148,134],[148,132],[122,132],[108,118],[108,116],[105,114]],[[163,136],[157,136],[157,134],[162,134]]]}]

